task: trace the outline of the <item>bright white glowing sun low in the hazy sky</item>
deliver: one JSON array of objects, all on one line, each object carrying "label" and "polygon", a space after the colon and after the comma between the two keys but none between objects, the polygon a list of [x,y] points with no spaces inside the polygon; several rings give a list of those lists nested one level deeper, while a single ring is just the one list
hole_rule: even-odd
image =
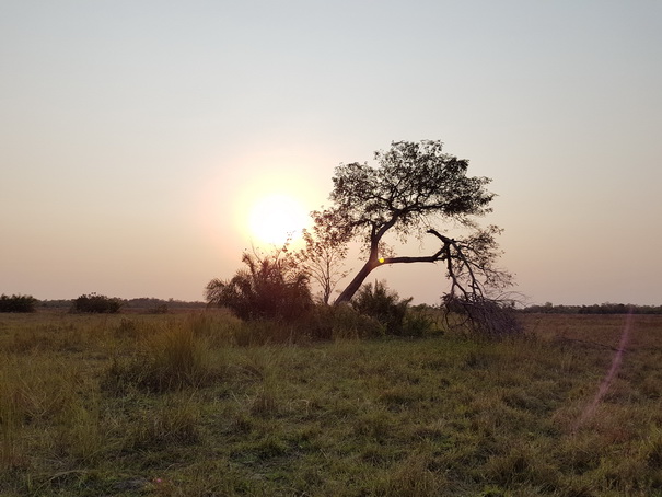
[{"label": "bright white glowing sun low in the hazy sky", "polygon": [[299,238],[307,221],[306,210],[293,197],[269,195],[253,206],[248,228],[258,243],[281,245]]}]

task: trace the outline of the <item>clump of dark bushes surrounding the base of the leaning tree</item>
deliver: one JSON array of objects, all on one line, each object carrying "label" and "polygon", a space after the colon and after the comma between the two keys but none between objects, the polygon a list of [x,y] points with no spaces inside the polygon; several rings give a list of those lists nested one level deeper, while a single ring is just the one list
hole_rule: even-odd
[{"label": "clump of dark bushes surrounding the base of the leaning tree", "polygon": [[209,304],[246,322],[234,330],[235,344],[422,336],[435,328],[429,313],[409,309],[411,299],[400,299],[382,281],[365,285],[350,305],[314,304],[307,266],[287,246],[268,255],[244,253],[242,261],[247,269],[227,281],[213,279],[206,289]]}]

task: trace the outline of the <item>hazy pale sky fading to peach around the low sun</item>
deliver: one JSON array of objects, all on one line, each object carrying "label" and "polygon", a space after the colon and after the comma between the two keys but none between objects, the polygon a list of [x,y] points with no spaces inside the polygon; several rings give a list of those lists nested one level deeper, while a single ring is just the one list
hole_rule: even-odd
[{"label": "hazy pale sky fading to peach around the low sun", "polygon": [[660,89],[658,0],[0,0],[0,293],[202,300],[265,198],[439,139],[527,303],[659,305]]}]

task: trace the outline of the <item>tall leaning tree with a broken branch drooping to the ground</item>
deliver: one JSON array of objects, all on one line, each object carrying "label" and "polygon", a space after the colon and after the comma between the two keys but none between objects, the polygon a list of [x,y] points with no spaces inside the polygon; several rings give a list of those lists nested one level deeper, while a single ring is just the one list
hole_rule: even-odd
[{"label": "tall leaning tree with a broken branch drooping to the ground", "polygon": [[[499,256],[493,226],[480,228],[476,217],[491,211],[495,194],[486,189],[488,177],[468,176],[468,161],[442,151],[442,142],[398,141],[374,154],[375,166],[340,164],[333,177],[329,199],[334,205],[315,212],[315,222],[337,232],[339,240],[364,243],[365,263],[340,293],[336,304],[348,302],[368,275],[385,264],[442,263],[451,288],[444,294],[446,309],[462,308],[481,331],[501,334],[514,327],[502,320],[495,291],[510,285],[511,277],[495,266]],[[439,226],[461,227],[462,238],[444,233]],[[385,242],[387,233],[405,242],[430,235],[438,248],[429,255],[395,255]],[[496,326],[496,327],[495,327]]]}]

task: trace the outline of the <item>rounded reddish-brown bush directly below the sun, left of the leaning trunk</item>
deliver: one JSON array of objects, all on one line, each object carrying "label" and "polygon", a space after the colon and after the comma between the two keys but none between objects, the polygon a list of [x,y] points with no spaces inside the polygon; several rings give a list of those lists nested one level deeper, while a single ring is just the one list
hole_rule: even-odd
[{"label": "rounded reddish-brown bush directly below the sun, left of the leaning trunk", "polygon": [[206,287],[208,304],[227,307],[243,320],[293,321],[312,308],[307,274],[287,246],[274,254],[244,252],[230,280],[212,279]]}]

